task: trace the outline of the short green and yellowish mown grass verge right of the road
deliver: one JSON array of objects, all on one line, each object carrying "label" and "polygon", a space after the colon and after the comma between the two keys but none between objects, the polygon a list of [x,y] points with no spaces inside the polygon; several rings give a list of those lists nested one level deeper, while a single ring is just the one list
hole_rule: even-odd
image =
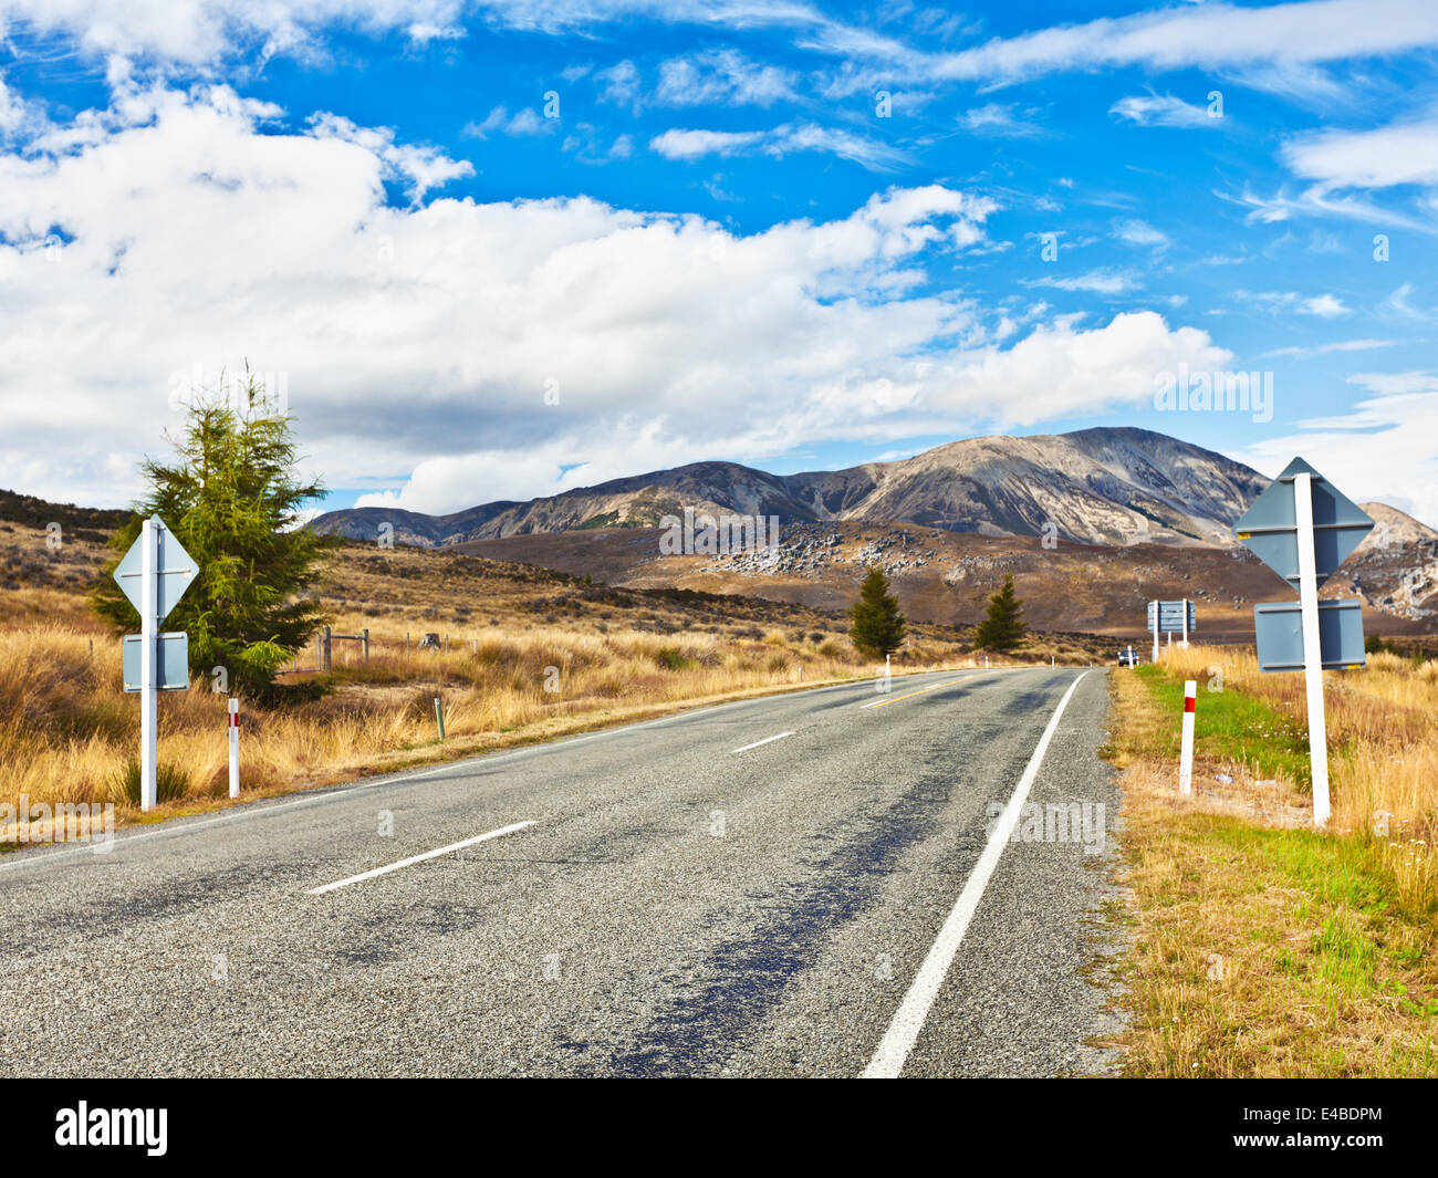
[{"label": "short green and yellowish mown grass verge right of the road", "polygon": [[[1176,804],[1182,683],[1143,667],[1114,689],[1109,752],[1136,774],[1125,1073],[1438,1076],[1438,896],[1401,889],[1373,840]],[[1199,759],[1297,778],[1307,755],[1301,725],[1232,690],[1201,689],[1195,728]]]}]

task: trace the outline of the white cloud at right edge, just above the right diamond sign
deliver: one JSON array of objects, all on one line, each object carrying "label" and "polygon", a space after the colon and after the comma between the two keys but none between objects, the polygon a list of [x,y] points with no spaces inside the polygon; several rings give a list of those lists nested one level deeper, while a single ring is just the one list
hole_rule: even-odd
[{"label": "white cloud at right edge, just above the right diamond sign", "polygon": [[1300,421],[1296,433],[1250,447],[1242,460],[1277,475],[1300,455],[1350,499],[1378,499],[1438,525],[1438,452],[1432,444],[1438,375],[1359,373],[1349,383],[1372,396],[1350,413]]}]

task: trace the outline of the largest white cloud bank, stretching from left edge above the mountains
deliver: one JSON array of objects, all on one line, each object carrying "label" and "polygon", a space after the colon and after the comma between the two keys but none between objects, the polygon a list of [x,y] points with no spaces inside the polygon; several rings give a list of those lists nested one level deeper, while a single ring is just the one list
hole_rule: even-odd
[{"label": "largest white cloud bank, stretching from left edge above the mountains", "polygon": [[[13,482],[127,499],[178,424],[173,381],[246,360],[282,374],[332,486],[401,486],[406,506],[444,511],[686,459],[1100,410],[1221,354],[1152,314],[1022,332],[1011,315],[1001,347],[985,328],[999,316],[926,283],[928,252],[979,242],[995,207],[939,186],[751,234],[584,197],[400,209],[387,177],[421,194],[463,161],[334,117],[303,134],[275,118],[224,88],[157,88],[53,128],[53,154],[0,154]],[[68,245],[43,247],[50,226]],[[879,380],[900,390],[887,410]]]}]

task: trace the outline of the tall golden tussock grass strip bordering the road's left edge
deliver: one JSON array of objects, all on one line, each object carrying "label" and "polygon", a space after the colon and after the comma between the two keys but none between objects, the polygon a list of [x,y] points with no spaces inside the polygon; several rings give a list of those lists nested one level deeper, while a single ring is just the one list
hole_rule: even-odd
[{"label": "tall golden tussock grass strip bordering the road's left edge", "polygon": [[[335,629],[361,624],[341,616]],[[72,618],[0,630],[0,801],[17,803],[20,794],[32,804],[111,801],[118,820],[134,821],[138,696],[121,692],[119,643],[82,626]],[[322,698],[242,705],[244,794],[552,738],[689,702],[871,675],[844,646],[778,631],[751,640],[541,624],[490,629],[436,653],[406,650],[403,631],[375,629],[370,662],[358,647],[335,644]],[[968,656],[938,641],[896,659],[899,670],[963,665],[972,665]],[[188,692],[160,696],[160,764],[175,768],[167,770],[157,814],[226,801],[226,698],[209,686],[197,679]],[[444,702],[444,745],[436,696]],[[0,841],[10,834],[0,831]]]}]

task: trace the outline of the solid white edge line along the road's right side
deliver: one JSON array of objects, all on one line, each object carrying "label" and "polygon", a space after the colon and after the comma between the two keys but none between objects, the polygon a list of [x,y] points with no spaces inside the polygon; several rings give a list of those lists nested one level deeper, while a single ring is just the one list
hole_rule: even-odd
[{"label": "solid white edge line along the road's right side", "polygon": [[1014,833],[1014,827],[1018,826],[1020,811],[1028,798],[1028,791],[1034,785],[1034,778],[1038,777],[1038,767],[1044,761],[1048,742],[1058,728],[1064,708],[1068,706],[1074,689],[1087,673],[1087,670],[1081,672],[1068,685],[1064,698],[1058,700],[1058,706],[1054,709],[1054,715],[1050,716],[1044,735],[1038,738],[1034,755],[1028,758],[1028,765],[1024,770],[1024,775],[1018,780],[1014,795],[1008,800],[1008,805],[999,816],[998,824],[994,827],[994,833],[984,847],[984,854],[979,856],[979,862],[963,885],[963,890],[959,893],[958,900],[953,902],[949,919],[939,929],[939,935],[935,938],[929,955],[923,959],[923,965],[919,967],[909,992],[903,995],[899,1010],[894,1011],[893,1021],[890,1021],[889,1030],[884,1031],[874,1057],[860,1076],[861,1080],[892,1080],[897,1079],[903,1072],[909,1053],[919,1040],[919,1031],[923,1030],[923,1023],[929,1017],[929,1008],[933,1005],[933,1000],[939,997],[943,978],[948,975],[949,965],[953,964],[953,956],[959,951],[959,942],[963,939],[963,933],[968,932],[969,921],[974,919],[979,900],[984,899],[984,889],[988,886],[989,877],[998,866],[999,856],[1004,854],[1004,847]]}]

